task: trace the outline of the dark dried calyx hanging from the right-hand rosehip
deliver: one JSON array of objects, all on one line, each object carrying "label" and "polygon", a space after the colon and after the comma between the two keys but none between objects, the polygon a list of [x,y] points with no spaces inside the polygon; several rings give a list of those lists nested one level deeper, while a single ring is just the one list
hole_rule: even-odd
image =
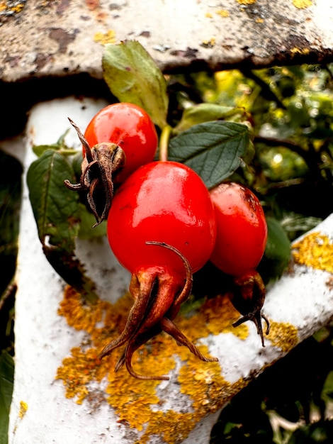
[{"label": "dark dried calyx hanging from the right-hand rosehip", "polygon": [[247,272],[242,277],[235,277],[233,282],[235,285],[231,298],[232,304],[243,316],[233,323],[232,326],[237,327],[246,321],[254,322],[256,331],[261,338],[261,344],[264,347],[264,332],[261,318],[266,322],[266,335],[269,334],[270,329],[269,320],[261,311],[266,296],[264,282],[260,274],[255,270]]}]

